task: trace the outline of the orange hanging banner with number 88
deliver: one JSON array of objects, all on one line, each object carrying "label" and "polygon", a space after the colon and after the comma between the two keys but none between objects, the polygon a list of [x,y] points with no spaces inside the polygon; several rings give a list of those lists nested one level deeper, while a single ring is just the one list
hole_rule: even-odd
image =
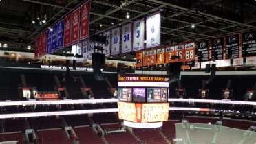
[{"label": "orange hanging banner with number 88", "polygon": [[195,61],[195,43],[186,43],[184,45],[184,51],[185,51],[185,56],[184,56],[184,62],[191,62]]}]

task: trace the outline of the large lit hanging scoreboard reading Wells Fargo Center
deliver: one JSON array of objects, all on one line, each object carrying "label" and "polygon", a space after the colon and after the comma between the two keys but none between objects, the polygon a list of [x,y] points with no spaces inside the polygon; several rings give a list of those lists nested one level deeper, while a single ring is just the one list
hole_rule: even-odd
[{"label": "large lit hanging scoreboard reading Wells Fargo Center", "polygon": [[158,128],[168,120],[169,78],[118,77],[118,116],[133,128]]}]

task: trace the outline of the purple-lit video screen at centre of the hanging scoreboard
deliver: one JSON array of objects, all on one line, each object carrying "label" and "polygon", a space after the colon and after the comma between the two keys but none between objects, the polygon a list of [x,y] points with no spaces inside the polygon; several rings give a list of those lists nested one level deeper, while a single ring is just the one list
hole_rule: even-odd
[{"label": "purple-lit video screen at centre of the hanging scoreboard", "polygon": [[132,88],[133,102],[146,102],[146,88]]}]

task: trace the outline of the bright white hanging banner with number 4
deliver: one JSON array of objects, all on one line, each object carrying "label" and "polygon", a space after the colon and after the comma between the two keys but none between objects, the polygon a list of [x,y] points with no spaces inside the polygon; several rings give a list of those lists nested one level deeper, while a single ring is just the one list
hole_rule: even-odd
[{"label": "bright white hanging banner with number 4", "polygon": [[146,48],[157,47],[161,44],[161,14],[157,12],[146,19],[147,44]]}]

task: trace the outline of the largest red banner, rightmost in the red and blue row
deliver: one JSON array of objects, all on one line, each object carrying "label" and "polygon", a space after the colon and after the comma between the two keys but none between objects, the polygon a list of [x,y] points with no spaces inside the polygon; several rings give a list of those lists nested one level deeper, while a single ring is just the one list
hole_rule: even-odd
[{"label": "largest red banner, rightmost in the red and blue row", "polygon": [[80,40],[89,36],[89,1],[81,5],[81,31]]}]

